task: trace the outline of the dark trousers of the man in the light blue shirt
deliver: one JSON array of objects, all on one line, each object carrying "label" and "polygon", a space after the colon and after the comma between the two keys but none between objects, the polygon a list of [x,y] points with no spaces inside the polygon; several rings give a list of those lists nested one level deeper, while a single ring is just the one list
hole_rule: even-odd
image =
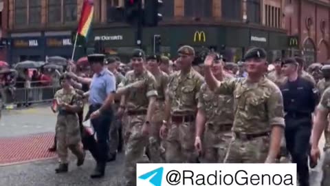
[{"label": "dark trousers of the man in the light blue shirt", "polygon": [[[90,105],[89,114],[98,110],[101,105]],[[91,125],[93,125],[97,137],[97,154],[94,155],[98,165],[105,166],[108,158],[108,143],[109,130],[111,120],[113,119],[113,112],[109,109],[107,112],[102,113],[98,118],[91,119]]]}]

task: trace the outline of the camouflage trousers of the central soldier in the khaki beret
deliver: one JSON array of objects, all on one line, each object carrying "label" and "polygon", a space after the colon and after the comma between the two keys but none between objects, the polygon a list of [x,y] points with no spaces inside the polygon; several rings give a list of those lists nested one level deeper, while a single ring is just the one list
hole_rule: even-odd
[{"label": "camouflage trousers of the central soldier in the khaki beret", "polygon": [[172,123],[165,142],[166,163],[196,163],[195,122]]}]

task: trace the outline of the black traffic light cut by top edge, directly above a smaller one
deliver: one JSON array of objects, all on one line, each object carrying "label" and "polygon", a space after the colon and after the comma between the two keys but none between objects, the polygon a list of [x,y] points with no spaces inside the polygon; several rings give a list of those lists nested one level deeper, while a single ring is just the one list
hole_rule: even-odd
[{"label": "black traffic light cut by top edge, directly above a smaller one", "polygon": [[162,21],[162,14],[159,13],[162,4],[162,0],[144,0],[144,25],[157,26]]}]

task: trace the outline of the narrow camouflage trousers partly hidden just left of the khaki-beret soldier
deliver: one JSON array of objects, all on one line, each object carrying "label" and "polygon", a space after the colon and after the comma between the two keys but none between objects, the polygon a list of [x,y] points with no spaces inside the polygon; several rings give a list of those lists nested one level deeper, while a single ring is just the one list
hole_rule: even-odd
[{"label": "narrow camouflage trousers partly hidden just left of the khaki-beret soldier", "polygon": [[151,130],[149,132],[148,158],[152,163],[162,163],[164,159],[162,157],[162,140],[159,136],[159,130],[164,120],[164,101],[157,101],[155,105],[155,112],[151,118]]}]

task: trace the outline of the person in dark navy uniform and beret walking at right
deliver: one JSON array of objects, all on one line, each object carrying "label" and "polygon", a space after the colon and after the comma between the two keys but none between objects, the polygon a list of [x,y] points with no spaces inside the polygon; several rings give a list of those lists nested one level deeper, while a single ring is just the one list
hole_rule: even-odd
[{"label": "person in dark navy uniform and beret walking at right", "polygon": [[287,82],[281,85],[285,111],[285,141],[292,162],[297,163],[300,186],[309,185],[308,156],[311,136],[311,114],[318,103],[318,90],[311,81],[298,74],[299,64],[293,58],[282,64]]}]

